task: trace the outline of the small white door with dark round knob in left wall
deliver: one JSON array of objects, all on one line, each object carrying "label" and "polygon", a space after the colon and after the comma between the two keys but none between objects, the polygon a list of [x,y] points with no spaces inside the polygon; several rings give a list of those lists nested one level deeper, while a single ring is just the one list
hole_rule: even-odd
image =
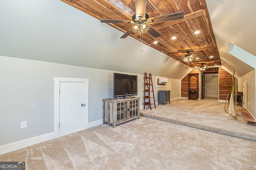
[{"label": "small white door with dark round knob in left wall", "polygon": [[60,82],[59,135],[85,128],[85,82]]}]

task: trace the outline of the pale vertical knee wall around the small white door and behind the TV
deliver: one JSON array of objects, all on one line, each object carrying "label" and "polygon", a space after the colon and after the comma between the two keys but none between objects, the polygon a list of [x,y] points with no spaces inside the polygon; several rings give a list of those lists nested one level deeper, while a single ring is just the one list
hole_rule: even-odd
[{"label": "pale vertical knee wall around the small white door and behind the TV", "polygon": [[[54,77],[89,78],[89,123],[102,119],[102,99],[113,97],[110,70],[0,56],[0,73],[0,149],[54,132]],[[144,75],[135,75],[142,108]],[[156,98],[160,88],[155,87],[156,77],[152,79]],[[20,129],[21,121],[27,121],[27,128]]]}]

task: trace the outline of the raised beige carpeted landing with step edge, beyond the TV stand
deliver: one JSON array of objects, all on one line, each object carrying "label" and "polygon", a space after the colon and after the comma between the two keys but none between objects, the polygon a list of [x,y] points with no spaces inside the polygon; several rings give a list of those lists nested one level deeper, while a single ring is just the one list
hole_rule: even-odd
[{"label": "raised beige carpeted landing with step edge, beyond the TV stand", "polygon": [[[247,125],[240,106],[237,106],[237,118],[225,112],[225,103],[218,102],[218,98],[204,100],[174,100],[171,104],[157,105],[156,108],[141,109],[140,115],[177,123],[214,133],[229,135],[251,141],[256,141],[256,127]],[[228,104],[226,104],[228,111]]]}]

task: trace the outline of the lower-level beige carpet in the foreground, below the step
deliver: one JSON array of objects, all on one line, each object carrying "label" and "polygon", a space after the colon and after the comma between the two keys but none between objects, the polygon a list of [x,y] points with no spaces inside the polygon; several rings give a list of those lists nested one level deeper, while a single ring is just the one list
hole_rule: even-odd
[{"label": "lower-level beige carpet in the foreground, below the step", "polygon": [[[161,107],[168,106],[152,110]],[[195,113],[193,106],[186,108]],[[199,112],[194,121],[201,123],[205,115]],[[142,116],[116,128],[102,124],[2,154],[0,161],[26,161],[26,170],[252,170],[256,169],[256,143]]]}]

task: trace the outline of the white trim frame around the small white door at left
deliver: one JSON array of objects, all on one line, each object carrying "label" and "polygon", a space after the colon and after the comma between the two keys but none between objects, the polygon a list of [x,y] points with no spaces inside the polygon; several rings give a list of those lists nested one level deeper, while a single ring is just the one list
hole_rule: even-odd
[{"label": "white trim frame around the small white door at left", "polygon": [[[59,137],[59,114],[60,114],[60,82],[85,82],[85,102],[87,102],[87,107],[85,107],[85,127],[87,129],[89,126],[89,79],[88,78],[63,78],[54,77],[54,136]],[[83,130],[83,129],[79,129]]]}]

